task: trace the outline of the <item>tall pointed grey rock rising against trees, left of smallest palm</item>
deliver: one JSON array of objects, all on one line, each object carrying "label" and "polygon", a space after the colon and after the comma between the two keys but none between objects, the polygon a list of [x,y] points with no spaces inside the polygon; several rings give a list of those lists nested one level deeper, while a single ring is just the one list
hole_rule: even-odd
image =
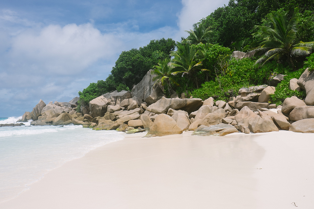
[{"label": "tall pointed grey rock rising against trees, left of smallest palm", "polygon": [[153,93],[153,86],[155,81],[153,81],[153,77],[155,75],[151,74],[152,70],[147,71],[146,75],[143,77],[142,81],[140,81],[137,85],[133,86],[131,94],[132,96],[140,97],[142,100],[145,100],[149,95]]}]

